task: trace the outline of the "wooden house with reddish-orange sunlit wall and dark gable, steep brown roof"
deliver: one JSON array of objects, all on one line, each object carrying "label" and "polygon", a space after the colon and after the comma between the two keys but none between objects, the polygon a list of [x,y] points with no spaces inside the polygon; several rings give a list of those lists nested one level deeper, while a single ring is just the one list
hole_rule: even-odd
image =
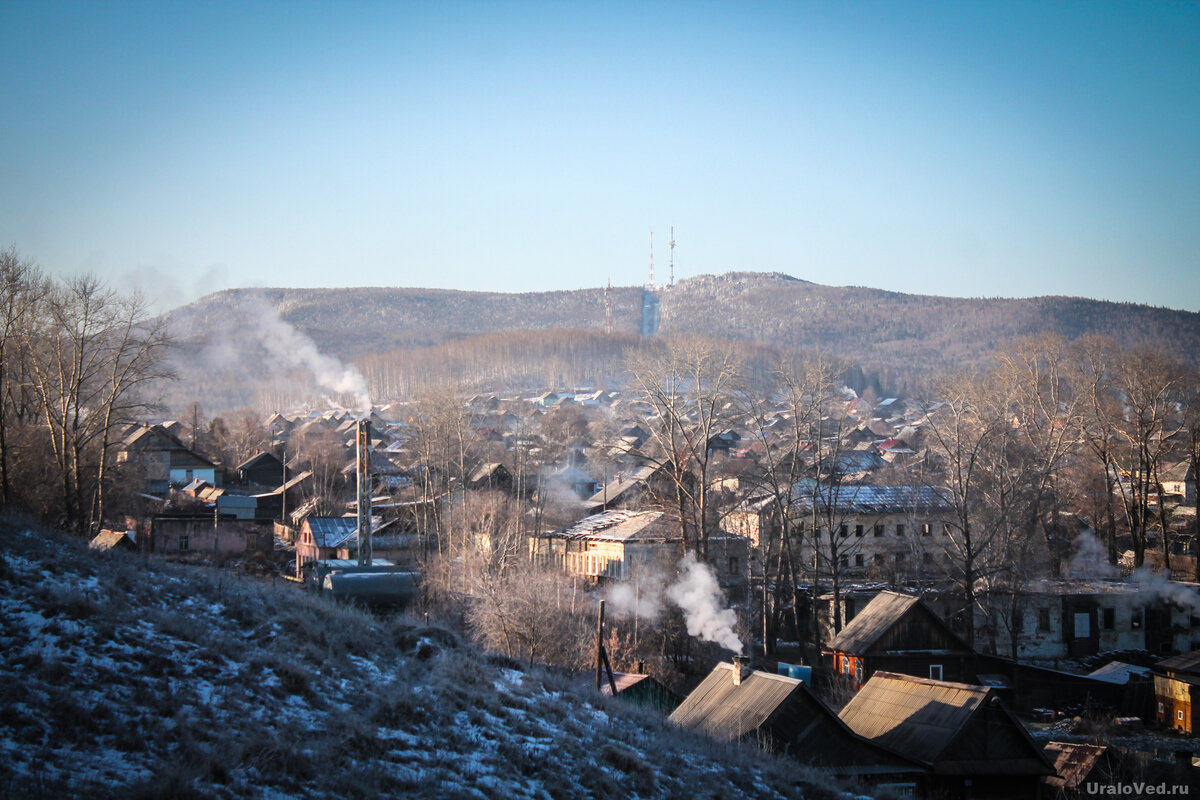
[{"label": "wooden house with reddish-orange sunlit wall and dark gable, steep brown roof", "polygon": [[881,591],[829,643],[834,673],[856,690],[877,670],[974,680],[974,651],[919,599]]}]

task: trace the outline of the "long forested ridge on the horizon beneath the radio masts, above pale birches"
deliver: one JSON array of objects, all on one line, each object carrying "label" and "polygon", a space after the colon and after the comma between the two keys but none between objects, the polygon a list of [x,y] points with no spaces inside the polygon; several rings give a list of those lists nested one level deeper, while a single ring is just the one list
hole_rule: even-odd
[{"label": "long forested ridge on the horizon beneath the radio masts, above pale birches", "polygon": [[[614,332],[637,333],[642,289],[610,291]],[[172,312],[176,335],[236,327],[247,302],[274,307],[326,353],[356,359],[514,329],[604,330],[605,290],[502,294],[410,288],[232,289]],[[959,299],[828,287],[780,273],[731,272],[662,293],[659,333],[701,333],[776,348],[820,347],[874,369],[964,365],[1016,336],[1112,336],[1126,347],[1200,353],[1200,314],[1080,297]]]}]

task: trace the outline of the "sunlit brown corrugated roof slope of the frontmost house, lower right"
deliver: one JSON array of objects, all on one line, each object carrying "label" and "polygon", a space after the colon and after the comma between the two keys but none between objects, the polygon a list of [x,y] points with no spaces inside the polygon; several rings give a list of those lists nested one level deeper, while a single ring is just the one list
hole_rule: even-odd
[{"label": "sunlit brown corrugated roof slope of the frontmost house, lower right", "polygon": [[989,692],[985,686],[876,672],[838,716],[858,735],[932,764]]}]

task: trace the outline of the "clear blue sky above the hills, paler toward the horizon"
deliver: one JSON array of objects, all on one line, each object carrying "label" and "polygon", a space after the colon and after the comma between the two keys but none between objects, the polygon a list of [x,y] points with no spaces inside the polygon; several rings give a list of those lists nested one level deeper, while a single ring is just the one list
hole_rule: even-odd
[{"label": "clear blue sky above the hills, paler toward the horizon", "polygon": [[164,305],[781,271],[1200,311],[1200,4],[0,0],[0,246]]}]

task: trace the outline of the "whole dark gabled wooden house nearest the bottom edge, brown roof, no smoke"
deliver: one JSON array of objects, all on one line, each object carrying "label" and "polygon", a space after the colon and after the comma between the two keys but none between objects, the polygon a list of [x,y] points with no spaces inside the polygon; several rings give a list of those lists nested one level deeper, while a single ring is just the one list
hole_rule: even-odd
[{"label": "whole dark gabled wooden house nearest the bottom edge, brown roof, no smoke", "polygon": [[877,672],[839,715],[925,768],[919,796],[1033,800],[1050,760],[990,688]]}]

